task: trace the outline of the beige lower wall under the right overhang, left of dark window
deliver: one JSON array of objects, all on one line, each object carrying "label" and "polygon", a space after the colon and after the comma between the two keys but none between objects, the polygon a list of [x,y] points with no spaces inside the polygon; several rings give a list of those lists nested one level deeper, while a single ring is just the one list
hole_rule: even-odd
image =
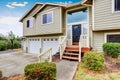
[{"label": "beige lower wall under the right overhang, left of dark window", "polygon": [[102,45],[106,42],[106,33],[120,33],[120,30],[93,32],[93,49],[95,51],[103,52]]}]

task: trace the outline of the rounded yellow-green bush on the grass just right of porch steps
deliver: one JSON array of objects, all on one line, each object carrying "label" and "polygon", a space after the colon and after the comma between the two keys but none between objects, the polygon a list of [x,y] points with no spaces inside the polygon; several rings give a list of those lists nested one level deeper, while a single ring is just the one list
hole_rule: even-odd
[{"label": "rounded yellow-green bush on the grass just right of porch steps", "polygon": [[102,70],[104,65],[104,56],[99,52],[87,52],[84,57],[84,64],[91,70]]}]

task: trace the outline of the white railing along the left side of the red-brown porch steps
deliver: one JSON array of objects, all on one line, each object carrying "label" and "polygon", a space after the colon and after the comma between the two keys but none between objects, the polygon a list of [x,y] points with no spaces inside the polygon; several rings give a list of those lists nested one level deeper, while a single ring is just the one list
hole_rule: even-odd
[{"label": "white railing along the left side of the red-brown porch steps", "polygon": [[60,59],[62,59],[62,55],[65,51],[66,45],[67,45],[67,37],[66,36],[60,37],[60,42],[59,42]]}]

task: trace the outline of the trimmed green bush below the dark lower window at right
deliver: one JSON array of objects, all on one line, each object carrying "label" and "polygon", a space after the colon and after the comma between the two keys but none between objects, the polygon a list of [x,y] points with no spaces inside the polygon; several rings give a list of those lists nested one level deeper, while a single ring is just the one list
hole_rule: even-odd
[{"label": "trimmed green bush below the dark lower window at right", "polygon": [[120,55],[120,43],[104,43],[103,51],[105,54],[117,58]]}]

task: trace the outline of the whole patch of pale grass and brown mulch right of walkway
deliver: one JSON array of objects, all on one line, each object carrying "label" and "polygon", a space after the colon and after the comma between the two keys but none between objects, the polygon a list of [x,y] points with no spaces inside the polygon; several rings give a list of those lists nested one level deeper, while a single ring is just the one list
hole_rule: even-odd
[{"label": "whole patch of pale grass and brown mulch right of walkway", "polygon": [[74,80],[120,80],[120,58],[104,55],[103,70],[93,71],[79,63]]}]

